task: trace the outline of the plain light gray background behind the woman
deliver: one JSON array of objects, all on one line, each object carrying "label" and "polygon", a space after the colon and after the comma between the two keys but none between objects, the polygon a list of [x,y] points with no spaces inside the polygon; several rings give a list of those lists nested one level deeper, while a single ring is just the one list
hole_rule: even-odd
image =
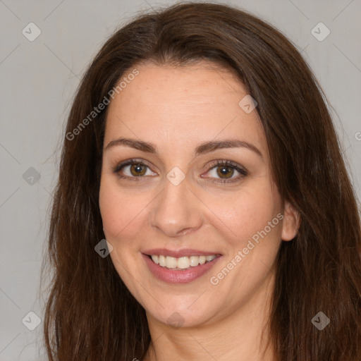
[{"label": "plain light gray background behind the woman", "polygon": [[[225,3],[269,21],[302,51],[334,108],[334,123],[360,197],[361,1]],[[35,326],[30,311],[40,320],[44,315],[46,293],[39,291],[39,275],[59,145],[75,89],[118,25],[161,4],[173,2],[0,0],[1,361],[45,360],[42,322],[34,331],[25,324]],[[22,33],[25,28],[35,35],[34,27],[28,30],[31,22],[41,30],[32,42]],[[322,42],[311,32],[320,22],[331,31]],[[322,28],[316,31],[325,34]]]}]

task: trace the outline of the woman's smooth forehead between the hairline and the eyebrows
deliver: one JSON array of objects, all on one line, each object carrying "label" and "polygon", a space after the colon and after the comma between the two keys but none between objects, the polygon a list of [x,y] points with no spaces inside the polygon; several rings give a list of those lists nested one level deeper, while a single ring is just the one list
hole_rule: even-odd
[{"label": "woman's smooth forehead between the hairline and the eyebrows", "polygon": [[235,137],[267,151],[257,112],[247,114],[239,105],[247,89],[235,73],[208,61],[181,67],[142,63],[135,69],[139,73],[109,104],[104,145],[131,136],[185,149]]}]

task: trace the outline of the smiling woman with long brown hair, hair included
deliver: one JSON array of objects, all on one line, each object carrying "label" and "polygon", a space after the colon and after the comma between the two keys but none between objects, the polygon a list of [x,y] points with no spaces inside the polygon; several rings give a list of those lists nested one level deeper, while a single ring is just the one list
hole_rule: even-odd
[{"label": "smiling woman with long brown hair, hair included", "polygon": [[138,16],[63,142],[49,360],[361,360],[361,231],[322,90],[238,8]]}]

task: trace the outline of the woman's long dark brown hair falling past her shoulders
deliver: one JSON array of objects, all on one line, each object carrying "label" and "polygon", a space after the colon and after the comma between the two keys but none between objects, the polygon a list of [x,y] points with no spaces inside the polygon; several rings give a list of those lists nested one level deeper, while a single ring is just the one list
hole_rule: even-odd
[{"label": "woman's long dark brown hair falling past her shoulders", "polygon": [[[274,27],[235,6],[192,2],[138,14],[104,44],[78,87],[49,226],[49,360],[144,357],[145,310],[111,257],[94,251],[104,238],[98,196],[106,107],[89,114],[142,61],[202,59],[237,74],[257,101],[274,182],[301,216],[298,235],[281,243],[276,260],[269,322],[277,360],[361,360],[360,219],[326,97]],[[322,331],[312,323],[318,312],[330,319]]]}]

